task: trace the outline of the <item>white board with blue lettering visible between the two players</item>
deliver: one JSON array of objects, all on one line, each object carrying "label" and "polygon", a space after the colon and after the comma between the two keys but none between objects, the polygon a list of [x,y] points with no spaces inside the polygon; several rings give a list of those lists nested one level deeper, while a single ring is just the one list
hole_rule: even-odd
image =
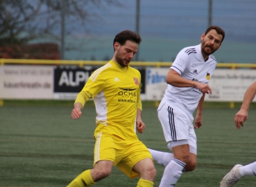
[{"label": "white board with blue lettering visible between the two players", "polygon": [[168,71],[168,67],[146,69],[146,100],[162,100],[167,89]]}]

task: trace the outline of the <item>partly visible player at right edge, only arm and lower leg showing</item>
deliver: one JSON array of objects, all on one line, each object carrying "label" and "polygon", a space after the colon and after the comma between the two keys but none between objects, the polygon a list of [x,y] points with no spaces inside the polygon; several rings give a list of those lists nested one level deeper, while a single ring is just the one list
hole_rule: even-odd
[{"label": "partly visible player at right edge, only arm and lower leg showing", "polygon": [[[239,112],[234,116],[234,124],[239,130],[240,127],[244,127],[244,122],[248,118],[248,110],[250,103],[252,103],[253,99],[256,95],[256,81],[253,84],[250,84],[250,87],[246,90],[244,94],[244,100],[241,105]],[[253,163],[249,163],[246,166],[242,166],[241,164],[236,164],[230,172],[228,172],[225,177],[221,180],[220,187],[231,187],[234,184],[237,184],[239,179],[245,176],[255,176],[256,175],[256,161]]]}]

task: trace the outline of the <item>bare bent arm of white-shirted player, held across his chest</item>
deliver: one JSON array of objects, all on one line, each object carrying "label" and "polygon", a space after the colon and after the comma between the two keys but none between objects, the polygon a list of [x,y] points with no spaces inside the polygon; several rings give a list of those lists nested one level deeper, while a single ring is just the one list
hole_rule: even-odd
[{"label": "bare bent arm of white-shirted player, held across his chest", "polygon": [[196,87],[200,89],[203,94],[212,94],[212,89],[208,84],[182,78],[180,74],[173,69],[170,69],[167,73],[167,84],[171,84],[173,87]]}]

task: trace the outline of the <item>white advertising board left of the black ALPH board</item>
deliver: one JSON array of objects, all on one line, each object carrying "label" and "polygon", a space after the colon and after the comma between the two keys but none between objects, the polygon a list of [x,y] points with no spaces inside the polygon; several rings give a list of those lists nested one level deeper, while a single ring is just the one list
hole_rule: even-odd
[{"label": "white advertising board left of the black ALPH board", "polygon": [[53,98],[53,66],[0,66],[0,98]]}]

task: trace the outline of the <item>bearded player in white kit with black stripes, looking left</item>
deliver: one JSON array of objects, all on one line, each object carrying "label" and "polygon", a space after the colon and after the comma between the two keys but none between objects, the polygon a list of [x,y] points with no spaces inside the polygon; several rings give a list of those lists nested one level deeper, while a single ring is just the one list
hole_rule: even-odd
[{"label": "bearded player in white kit with black stripes, looking left", "polygon": [[[212,53],[225,37],[219,26],[210,26],[197,46],[183,48],[167,73],[167,90],[157,109],[164,138],[171,152],[148,149],[157,163],[166,166],[160,186],[175,186],[182,171],[196,168],[196,133],[203,121],[205,94],[212,94],[208,81],[216,68]],[[197,108],[194,121],[193,113]],[[193,121],[195,125],[193,125]]]}]

